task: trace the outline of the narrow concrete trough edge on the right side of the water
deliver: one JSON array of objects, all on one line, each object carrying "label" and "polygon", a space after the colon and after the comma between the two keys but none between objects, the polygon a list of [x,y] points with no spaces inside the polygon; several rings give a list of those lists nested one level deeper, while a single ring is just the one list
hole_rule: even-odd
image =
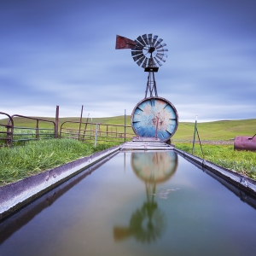
[{"label": "narrow concrete trough edge on the right side of the water", "polygon": [[201,166],[202,168],[205,168],[208,171],[215,173],[218,177],[222,177],[228,182],[235,184],[240,189],[256,195],[256,181],[254,181],[252,178],[246,177],[245,175],[242,175],[238,172],[233,172],[224,167],[217,166],[210,161],[201,159],[200,157],[184,152],[183,150],[177,148],[174,148],[174,150],[178,154],[181,154],[183,158],[189,160],[195,165]]}]

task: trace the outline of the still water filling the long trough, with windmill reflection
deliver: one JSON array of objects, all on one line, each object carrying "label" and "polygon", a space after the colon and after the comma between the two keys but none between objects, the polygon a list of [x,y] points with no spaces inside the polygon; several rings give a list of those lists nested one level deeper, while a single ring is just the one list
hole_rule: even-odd
[{"label": "still water filling the long trough, with windmill reflection", "polygon": [[0,255],[255,255],[255,238],[255,209],[175,152],[121,152],[0,224]]}]

